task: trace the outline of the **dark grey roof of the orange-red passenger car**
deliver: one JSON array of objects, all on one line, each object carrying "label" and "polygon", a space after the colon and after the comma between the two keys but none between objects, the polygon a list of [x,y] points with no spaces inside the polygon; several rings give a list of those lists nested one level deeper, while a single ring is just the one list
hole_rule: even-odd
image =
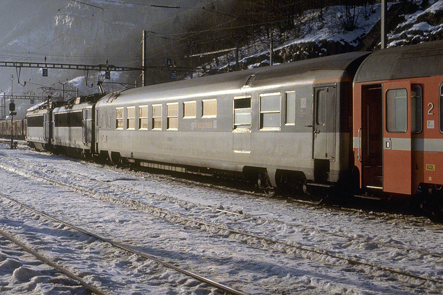
[{"label": "dark grey roof of the orange-red passenger car", "polygon": [[443,41],[386,48],[372,53],[354,83],[443,75]]}]

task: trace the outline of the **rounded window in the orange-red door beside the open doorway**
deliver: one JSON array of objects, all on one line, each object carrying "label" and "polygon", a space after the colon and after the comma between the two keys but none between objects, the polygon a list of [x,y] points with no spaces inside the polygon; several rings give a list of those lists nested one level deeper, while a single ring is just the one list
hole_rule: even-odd
[{"label": "rounded window in the orange-red door beside the open doorway", "polygon": [[404,133],[408,129],[408,92],[406,89],[386,91],[386,130]]}]

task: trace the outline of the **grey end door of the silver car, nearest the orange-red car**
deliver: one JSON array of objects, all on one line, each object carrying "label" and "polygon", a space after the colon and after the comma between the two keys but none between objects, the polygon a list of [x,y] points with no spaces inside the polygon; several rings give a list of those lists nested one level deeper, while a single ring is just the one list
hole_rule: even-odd
[{"label": "grey end door of the silver car, nearest the orange-red car", "polygon": [[336,86],[314,87],[313,149],[314,178],[325,182],[329,161],[335,158]]}]

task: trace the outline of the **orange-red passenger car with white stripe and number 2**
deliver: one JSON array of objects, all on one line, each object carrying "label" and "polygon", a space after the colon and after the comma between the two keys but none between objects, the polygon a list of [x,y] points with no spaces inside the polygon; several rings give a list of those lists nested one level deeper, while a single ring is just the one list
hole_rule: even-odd
[{"label": "orange-red passenger car with white stripe and number 2", "polygon": [[354,77],[354,175],[360,193],[417,196],[443,208],[443,41],[372,53]]}]

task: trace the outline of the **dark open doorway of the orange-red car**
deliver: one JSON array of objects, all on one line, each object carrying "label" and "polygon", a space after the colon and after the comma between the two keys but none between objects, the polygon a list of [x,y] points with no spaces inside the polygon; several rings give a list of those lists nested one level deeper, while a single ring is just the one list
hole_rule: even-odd
[{"label": "dark open doorway of the orange-red car", "polygon": [[362,186],[383,189],[383,91],[381,84],[361,87],[361,129],[359,129]]}]

